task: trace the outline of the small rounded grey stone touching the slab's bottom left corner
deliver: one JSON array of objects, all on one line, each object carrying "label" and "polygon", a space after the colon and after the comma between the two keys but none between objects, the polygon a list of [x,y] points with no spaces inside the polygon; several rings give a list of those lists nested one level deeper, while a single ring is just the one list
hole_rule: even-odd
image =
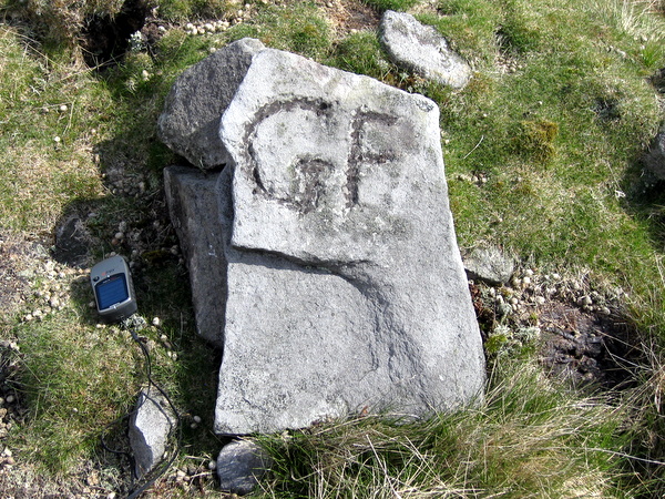
[{"label": "small rounded grey stone touching the slab's bottom left corner", "polygon": [[258,445],[235,440],[217,457],[217,477],[222,490],[238,496],[250,493],[272,466],[272,459]]}]

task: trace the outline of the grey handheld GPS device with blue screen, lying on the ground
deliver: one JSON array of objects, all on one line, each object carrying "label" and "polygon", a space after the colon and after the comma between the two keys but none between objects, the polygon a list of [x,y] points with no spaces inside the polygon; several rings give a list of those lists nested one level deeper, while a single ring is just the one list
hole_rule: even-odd
[{"label": "grey handheld GPS device with blue screen, lying on the ground", "polygon": [[124,257],[111,256],[90,271],[98,313],[106,322],[122,320],[136,312],[136,296]]}]

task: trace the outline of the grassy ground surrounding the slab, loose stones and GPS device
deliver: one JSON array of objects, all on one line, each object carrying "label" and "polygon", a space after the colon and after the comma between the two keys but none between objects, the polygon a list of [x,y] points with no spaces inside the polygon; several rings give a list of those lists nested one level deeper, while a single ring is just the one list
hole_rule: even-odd
[{"label": "grassy ground surrounding the slab, loose stones and GPS device", "polygon": [[[129,330],[96,324],[85,275],[117,252],[132,262],[153,376],[184,421],[152,493],[223,497],[208,469],[223,444],[212,432],[219,359],[195,336],[162,193],[177,159],[156,119],[185,68],[255,37],[434,100],[460,246],[500,246],[532,281],[475,289],[491,339],[484,401],[417,424],[370,415],[256,436],[275,459],[257,497],[662,497],[665,189],[641,163],[664,118],[662,2],[127,4],[0,0],[0,488],[131,488],[126,460],[100,437],[124,445],[119,418],[144,360]],[[388,8],[439,29],[471,83],[451,91],[396,68],[376,32]],[[112,31],[130,34],[102,43]],[[548,304],[628,332],[621,389],[548,373],[543,337],[520,333],[544,329],[544,308],[525,298],[536,284],[557,289]],[[497,314],[499,295],[521,313]]]}]

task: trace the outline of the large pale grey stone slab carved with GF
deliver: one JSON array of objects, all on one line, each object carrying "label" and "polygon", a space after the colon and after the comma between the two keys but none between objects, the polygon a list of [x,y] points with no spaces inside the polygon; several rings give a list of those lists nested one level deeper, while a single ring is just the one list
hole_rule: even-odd
[{"label": "large pale grey stone slab carved with GF", "polygon": [[366,407],[424,416],[481,393],[438,119],[433,102],[376,80],[254,55],[219,130],[234,167],[217,184],[217,432]]}]

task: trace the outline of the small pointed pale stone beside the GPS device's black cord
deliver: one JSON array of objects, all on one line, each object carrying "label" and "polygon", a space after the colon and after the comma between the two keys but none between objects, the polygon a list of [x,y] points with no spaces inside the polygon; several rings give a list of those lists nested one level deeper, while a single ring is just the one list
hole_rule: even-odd
[{"label": "small pointed pale stone beside the GPS device's black cord", "polygon": [[130,420],[130,446],[139,478],[150,472],[164,457],[168,436],[176,426],[173,410],[157,390],[142,390]]}]

